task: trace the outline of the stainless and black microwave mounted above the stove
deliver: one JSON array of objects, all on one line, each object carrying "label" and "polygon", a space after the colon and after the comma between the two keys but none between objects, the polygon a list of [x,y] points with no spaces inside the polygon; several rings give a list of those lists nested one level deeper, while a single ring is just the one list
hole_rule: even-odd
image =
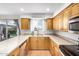
[{"label": "stainless and black microwave mounted above the stove", "polygon": [[68,23],[69,23],[69,32],[79,34],[79,16],[71,18]]}]

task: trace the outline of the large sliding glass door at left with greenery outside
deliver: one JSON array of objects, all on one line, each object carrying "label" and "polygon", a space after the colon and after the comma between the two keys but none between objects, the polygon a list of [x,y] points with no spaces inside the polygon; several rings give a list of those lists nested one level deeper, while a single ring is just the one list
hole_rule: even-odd
[{"label": "large sliding glass door at left with greenery outside", "polygon": [[17,36],[19,24],[17,20],[0,20],[0,41]]}]

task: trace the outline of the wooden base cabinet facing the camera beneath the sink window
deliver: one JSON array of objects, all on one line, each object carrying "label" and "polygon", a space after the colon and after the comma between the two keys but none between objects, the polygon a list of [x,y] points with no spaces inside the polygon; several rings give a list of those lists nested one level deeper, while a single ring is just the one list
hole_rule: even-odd
[{"label": "wooden base cabinet facing the camera beneath the sink window", "polygon": [[49,38],[30,37],[30,49],[49,49]]}]

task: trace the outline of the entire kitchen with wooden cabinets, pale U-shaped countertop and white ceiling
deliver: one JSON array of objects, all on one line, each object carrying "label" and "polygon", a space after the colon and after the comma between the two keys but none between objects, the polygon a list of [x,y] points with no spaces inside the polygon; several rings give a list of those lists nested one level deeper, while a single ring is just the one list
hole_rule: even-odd
[{"label": "entire kitchen with wooden cabinets, pale U-shaped countertop and white ceiling", "polygon": [[0,56],[79,56],[79,3],[0,8]]}]

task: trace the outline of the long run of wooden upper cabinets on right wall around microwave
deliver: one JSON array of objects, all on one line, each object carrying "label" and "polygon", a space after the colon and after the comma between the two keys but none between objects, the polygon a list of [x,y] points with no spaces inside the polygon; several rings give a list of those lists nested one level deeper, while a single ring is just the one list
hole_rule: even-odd
[{"label": "long run of wooden upper cabinets on right wall around microwave", "polygon": [[53,18],[53,30],[68,31],[70,18],[79,16],[79,3],[73,3]]}]

